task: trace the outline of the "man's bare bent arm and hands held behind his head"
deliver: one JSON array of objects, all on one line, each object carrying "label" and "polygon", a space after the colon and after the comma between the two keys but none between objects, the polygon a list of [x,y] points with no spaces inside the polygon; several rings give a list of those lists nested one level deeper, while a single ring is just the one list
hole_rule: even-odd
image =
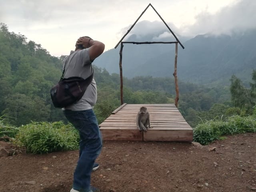
[{"label": "man's bare bent arm and hands held behind his head", "polygon": [[80,37],[77,42],[78,45],[83,45],[84,48],[89,48],[90,60],[93,61],[100,56],[105,48],[104,43],[96,40],[92,40],[87,37]]}]

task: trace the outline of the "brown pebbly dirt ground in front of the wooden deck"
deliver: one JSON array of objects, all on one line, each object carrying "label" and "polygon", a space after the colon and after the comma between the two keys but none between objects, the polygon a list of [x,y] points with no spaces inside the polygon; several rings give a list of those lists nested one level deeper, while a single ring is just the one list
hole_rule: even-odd
[{"label": "brown pebbly dirt ground in front of the wooden deck", "polygon": [[[0,192],[69,192],[78,151],[12,154],[0,142]],[[256,191],[256,134],[208,146],[105,141],[92,173],[101,192]]]}]

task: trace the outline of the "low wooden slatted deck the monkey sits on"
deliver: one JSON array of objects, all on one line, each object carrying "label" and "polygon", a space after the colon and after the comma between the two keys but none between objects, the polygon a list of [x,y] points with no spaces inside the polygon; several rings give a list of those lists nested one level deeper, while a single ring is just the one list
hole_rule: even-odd
[{"label": "low wooden slatted deck the monkey sits on", "polygon": [[[141,106],[150,112],[151,126],[140,132],[136,115]],[[174,104],[123,104],[100,125],[103,140],[192,142],[193,130]]]}]

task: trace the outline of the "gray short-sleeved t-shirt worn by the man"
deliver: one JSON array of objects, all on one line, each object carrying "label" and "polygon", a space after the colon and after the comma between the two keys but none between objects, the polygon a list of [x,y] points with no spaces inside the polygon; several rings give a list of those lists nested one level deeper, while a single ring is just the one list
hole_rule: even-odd
[{"label": "gray short-sleeved t-shirt worn by the man", "polygon": [[[92,62],[90,61],[89,49],[82,49],[78,51],[71,51],[68,56],[65,67],[64,78],[72,76],[80,76],[87,78],[92,74]],[[82,98],[68,107],[62,108],[62,110],[81,111],[92,109],[97,100],[97,86],[94,78],[91,84],[88,86]]]}]

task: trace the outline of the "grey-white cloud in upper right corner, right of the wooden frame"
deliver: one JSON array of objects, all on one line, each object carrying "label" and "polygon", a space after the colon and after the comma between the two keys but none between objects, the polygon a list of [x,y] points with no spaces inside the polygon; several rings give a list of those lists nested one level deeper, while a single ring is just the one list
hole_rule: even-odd
[{"label": "grey-white cloud in upper right corner, right of the wooden frame", "polygon": [[255,0],[237,0],[235,4],[226,6],[215,14],[201,12],[196,16],[196,22],[193,25],[182,26],[181,31],[185,35],[243,32],[256,28],[255,10]]}]

